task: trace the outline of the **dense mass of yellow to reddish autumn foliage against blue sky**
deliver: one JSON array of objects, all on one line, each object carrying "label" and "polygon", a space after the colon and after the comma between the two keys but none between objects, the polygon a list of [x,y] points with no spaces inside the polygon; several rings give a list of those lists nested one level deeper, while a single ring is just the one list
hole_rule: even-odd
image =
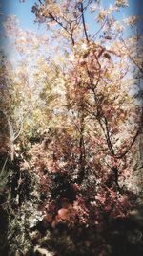
[{"label": "dense mass of yellow to reddish autumn foliage against blue sky", "polygon": [[17,55],[1,67],[9,255],[114,255],[111,223],[128,218],[142,189],[133,162],[142,35],[138,17],[116,19],[127,2],[37,1],[32,12],[49,36],[6,19]]}]

